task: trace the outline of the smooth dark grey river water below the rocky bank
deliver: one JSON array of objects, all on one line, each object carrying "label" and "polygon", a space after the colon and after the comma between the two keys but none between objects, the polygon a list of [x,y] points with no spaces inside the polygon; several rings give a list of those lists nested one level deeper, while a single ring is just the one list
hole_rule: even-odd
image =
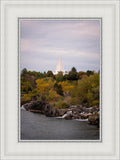
[{"label": "smooth dark grey river water below the rocky bank", "polygon": [[99,140],[99,129],[83,121],[46,117],[21,109],[21,140]]}]

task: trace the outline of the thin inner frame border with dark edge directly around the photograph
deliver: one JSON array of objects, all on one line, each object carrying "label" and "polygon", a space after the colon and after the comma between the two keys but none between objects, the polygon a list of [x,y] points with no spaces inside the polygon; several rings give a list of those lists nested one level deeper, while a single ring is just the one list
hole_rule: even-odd
[{"label": "thin inner frame border with dark edge directly around the photograph", "polygon": [[[21,24],[21,22],[22,21],[24,21],[24,20],[27,20],[27,21],[44,21],[44,20],[47,20],[47,21],[60,21],[60,20],[64,20],[64,21],[67,21],[67,20],[70,20],[70,21],[99,21],[99,27],[100,27],[100,42],[99,42],[99,47],[100,47],[100,54],[99,54],[99,56],[100,56],[100,60],[99,60],[99,63],[100,63],[100,65],[99,65],[99,72],[100,72],[100,88],[99,88],[99,94],[100,94],[100,98],[99,98],[99,108],[100,108],[100,122],[99,122],[99,129],[98,129],[98,139],[80,139],[80,140],[75,140],[75,139],[73,139],[73,140],[39,140],[39,139],[37,139],[37,140],[34,140],[34,139],[31,139],[31,140],[25,140],[25,139],[21,139],[21,127],[22,127],[22,125],[21,125],[21,106],[20,106],[20,101],[21,101],[21,99],[20,99],[20,95],[21,95],[21,93],[20,93],[20,85],[19,85],[19,95],[18,95],[18,97],[19,97],[19,107],[18,107],[18,116],[19,116],[19,124],[18,124],[18,141],[19,142],[30,142],[30,141],[32,141],[32,142],[61,142],[61,141],[63,141],[63,142],[102,142],[102,94],[101,94],[101,92],[102,92],[102,79],[101,79],[101,77],[102,77],[102,65],[101,65],[101,60],[102,60],[102,18],[66,18],[66,17],[62,17],[62,18],[56,18],[56,17],[53,17],[53,18],[50,18],[50,17],[46,17],[46,18],[36,18],[36,17],[32,17],[32,18],[18,18],[18,55],[19,55],[19,62],[18,62],[18,64],[19,64],[19,66],[20,66],[20,63],[21,63],[21,60],[20,60],[20,55],[21,55],[21,51],[20,51],[20,43],[21,43],[21,38],[20,38],[20,32],[21,32],[21,30],[20,30],[20,24]],[[21,68],[19,67],[19,77],[18,77],[18,79],[19,79],[19,84],[20,84],[20,70],[21,70]]]}]

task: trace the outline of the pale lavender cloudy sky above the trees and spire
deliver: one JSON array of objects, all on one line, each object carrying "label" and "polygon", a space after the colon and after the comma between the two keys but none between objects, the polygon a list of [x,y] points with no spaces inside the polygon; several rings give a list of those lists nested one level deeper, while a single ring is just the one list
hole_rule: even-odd
[{"label": "pale lavender cloudy sky above the trees and spire", "polygon": [[100,70],[99,20],[20,20],[20,66],[31,71]]}]

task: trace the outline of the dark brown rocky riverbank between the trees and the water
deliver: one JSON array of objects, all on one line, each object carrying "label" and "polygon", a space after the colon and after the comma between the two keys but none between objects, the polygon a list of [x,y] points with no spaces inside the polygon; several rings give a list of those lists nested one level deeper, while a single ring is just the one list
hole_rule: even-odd
[{"label": "dark brown rocky riverbank between the trees and the water", "polygon": [[93,106],[90,108],[82,105],[71,105],[67,109],[56,109],[44,101],[31,101],[24,104],[27,111],[41,113],[49,117],[62,117],[64,119],[88,119],[87,123],[98,125],[99,127],[99,107]]}]

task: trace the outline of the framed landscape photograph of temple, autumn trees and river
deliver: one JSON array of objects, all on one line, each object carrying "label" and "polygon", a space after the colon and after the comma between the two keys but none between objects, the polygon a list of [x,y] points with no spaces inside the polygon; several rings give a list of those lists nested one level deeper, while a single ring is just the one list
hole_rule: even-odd
[{"label": "framed landscape photograph of temple, autumn trees and river", "polygon": [[19,140],[101,140],[101,19],[19,18]]}]

